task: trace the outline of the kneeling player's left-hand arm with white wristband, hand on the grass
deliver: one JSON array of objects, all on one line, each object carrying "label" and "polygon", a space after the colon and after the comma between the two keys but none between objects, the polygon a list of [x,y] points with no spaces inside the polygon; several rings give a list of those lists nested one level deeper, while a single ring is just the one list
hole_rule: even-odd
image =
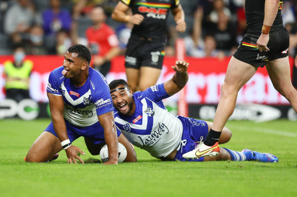
[{"label": "kneeling player's left-hand arm with white wristband, hand on the grass", "polygon": [[66,125],[64,121],[64,101],[62,96],[56,96],[51,93],[47,93],[47,97],[49,100],[49,110],[51,114],[53,128],[60,142],[62,142],[62,147],[66,151],[68,157],[67,163],[77,164],[77,159],[82,164],[84,164],[80,157],[77,155],[77,152],[80,152],[81,154],[84,154],[84,152],[80,150],[77,146],[71,145],[67,135]]}]

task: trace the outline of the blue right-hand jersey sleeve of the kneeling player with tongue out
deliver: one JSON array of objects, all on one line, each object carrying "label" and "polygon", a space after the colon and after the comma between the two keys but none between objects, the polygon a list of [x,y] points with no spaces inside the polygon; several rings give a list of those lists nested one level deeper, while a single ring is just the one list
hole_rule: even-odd
[{"label": "blue right-hand jersey sleeve of the kneeling player with tongue out", "polygon": [[95,89],[94,96],[92,96],[92,101],[95,104],[97,115],[102,115],[109,111],[113,111],[113,105],[107,83],[105,83],[105,80],[102,78],[99,84],[99,86],[96,86],[95,84],[97,88]]}]

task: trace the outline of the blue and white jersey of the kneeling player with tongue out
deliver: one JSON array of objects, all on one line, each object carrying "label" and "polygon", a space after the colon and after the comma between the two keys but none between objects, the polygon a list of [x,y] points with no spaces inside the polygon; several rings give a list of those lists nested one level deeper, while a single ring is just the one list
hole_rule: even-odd
[{"label": "blue and white jersey of the kneeling player with tongue out", "polygon": [[99,71],[90,67],[85,84],[77,88],[64,77],[63,70],[61,66],[50,73],[46,91],[63,97],[64,118],[69,123],[87,127],[98,122],[98,115],[113,110],[109,87]]}]

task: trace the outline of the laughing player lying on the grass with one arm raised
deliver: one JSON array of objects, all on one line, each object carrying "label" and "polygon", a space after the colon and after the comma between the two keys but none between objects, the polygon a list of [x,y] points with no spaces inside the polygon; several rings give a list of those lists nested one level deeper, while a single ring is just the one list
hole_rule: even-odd
[{"label": "laughing player lying on the grass with one arm raised", "polygon": [[[167,111],[162,99],[179,92],[188,82],[188,65],[185,61],[176,61],[172,66],[173,77],[143,92],[129,89],[124,80],[114,80],[109,84],[114,106],[115,125],[135,146],[140,147],[163,161],[259,161],[278,162],[270,153],[260,153],[244,149],[242,152],[218,147],[213,155],[199,159],[185,159],[183,154],[195,148],[209,132],[212,123],[174,116]],[[219,143],[226,143],[231,138],[231,131],[224,127]]]}]

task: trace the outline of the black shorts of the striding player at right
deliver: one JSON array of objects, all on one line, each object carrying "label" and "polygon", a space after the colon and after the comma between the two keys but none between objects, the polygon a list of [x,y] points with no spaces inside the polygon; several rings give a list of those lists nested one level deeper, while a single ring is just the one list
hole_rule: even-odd
[{"label": "black shorts of the striding player at right", "polygon": [[253,66],[264,67],[271,60],[288,56],[289,33],[287,29],[284,27],[271,29],[267,45],[270,50],[268,52],[258,50],[257,40],[259,36],[260,34],[255,33],[245,34],[233,57]]}]

